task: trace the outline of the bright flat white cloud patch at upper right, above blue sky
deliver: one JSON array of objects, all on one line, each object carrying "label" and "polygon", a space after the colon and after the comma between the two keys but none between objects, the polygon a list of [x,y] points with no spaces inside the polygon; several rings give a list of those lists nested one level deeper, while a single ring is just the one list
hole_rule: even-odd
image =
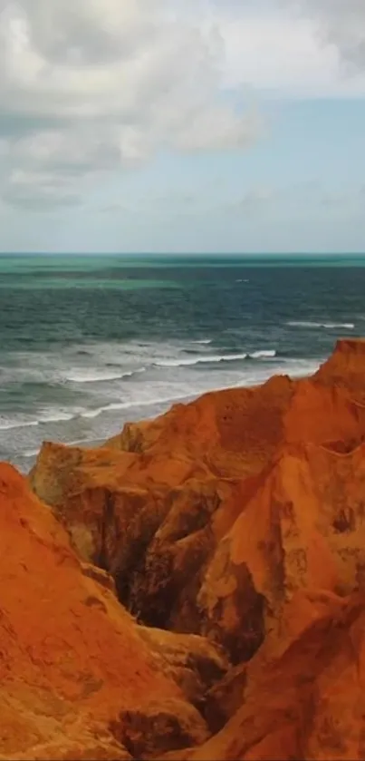
[{"label": "bright flat white cloud patch at upper right, above blue sky", "polygon": [[280,97],[364,96],[364,73],[344,77],[340,51],[320,30],[318,19],[283,13],[226,18],[226,83]]}]

